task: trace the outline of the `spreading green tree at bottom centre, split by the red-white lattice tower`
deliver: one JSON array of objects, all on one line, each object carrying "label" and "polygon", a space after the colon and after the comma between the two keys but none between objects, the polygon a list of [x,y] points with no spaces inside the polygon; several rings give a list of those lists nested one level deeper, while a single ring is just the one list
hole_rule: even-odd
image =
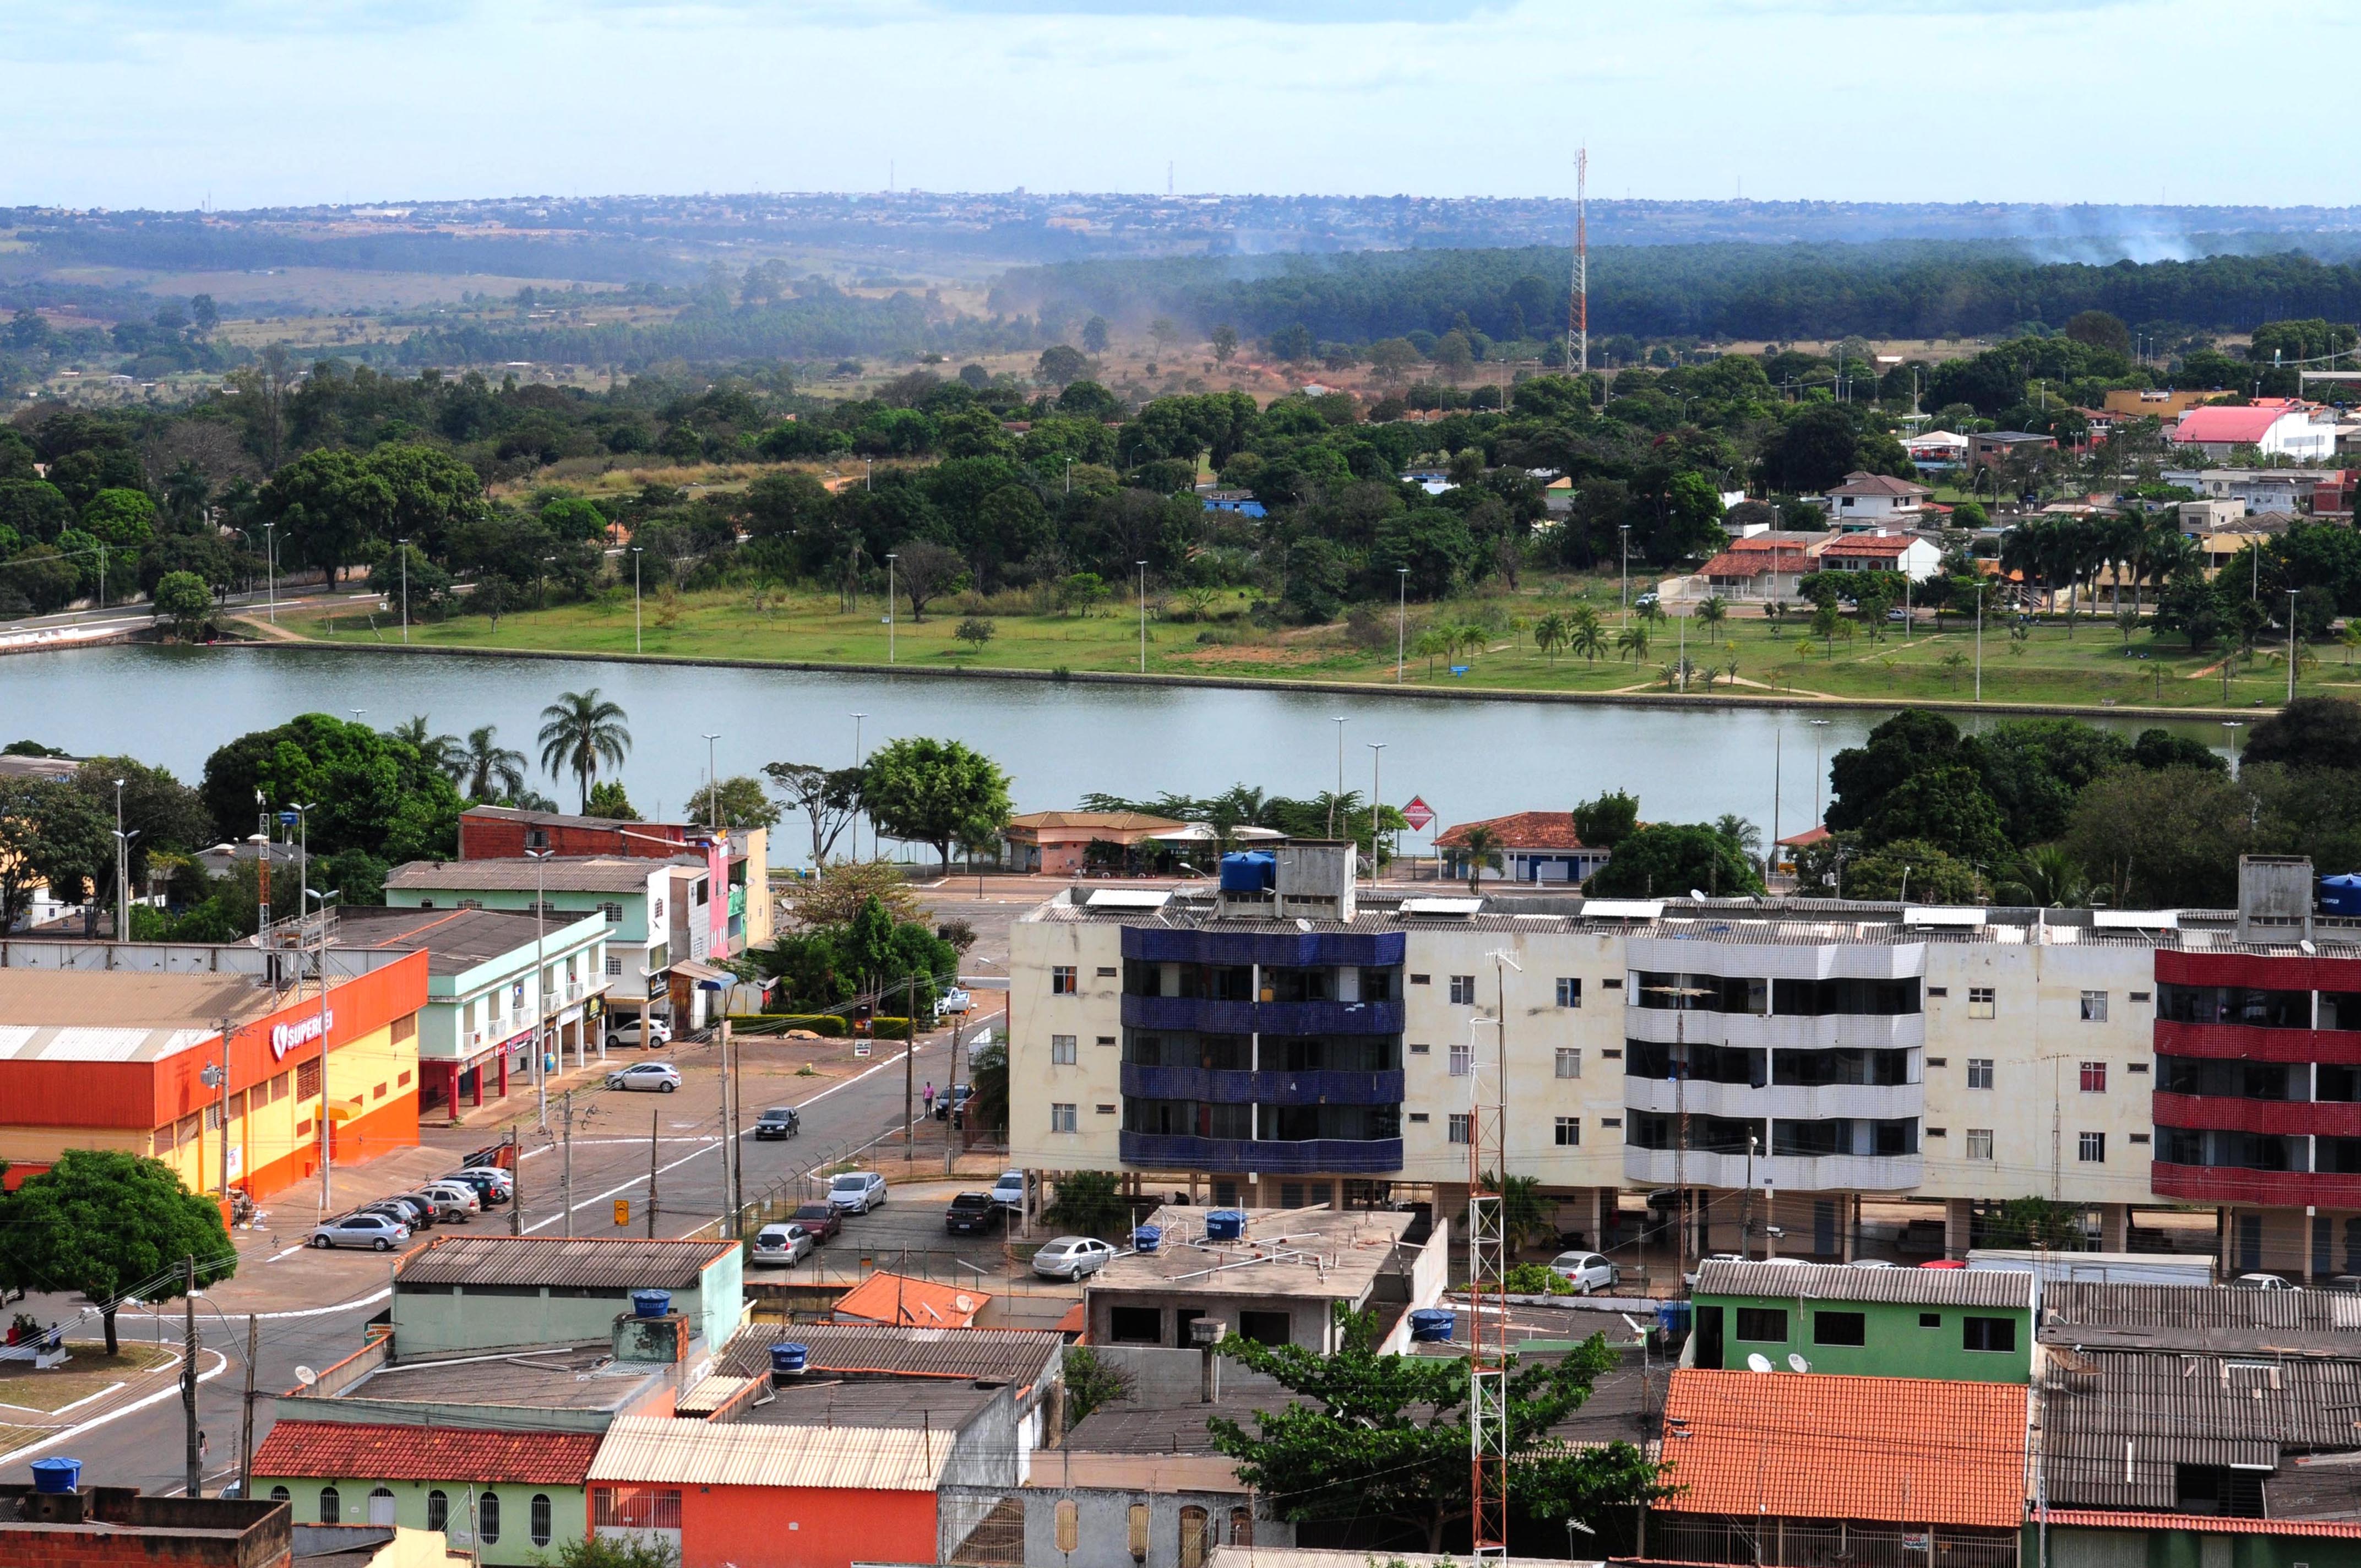
[{"label": "spreading green tree at bottom centre, split by the red-white lattice tower", "polygon": [[[1209,1417],[1214,1448],[1237,1478],[1289,1521],[1362,1521],[1417,1530],[1428,1551],[1469,1518],[1469,1363],[1457,1355],[1379,1355],[1376,1313],[1336,1306],[1332,1355],[1240,1334],[1221,1353],[1299,1398],[1256,1410],[1254,1429]],[[1570,1445],[1549,1429],[1582,1407],[1615,1365],[1594,1334],[1556,1360],[1511,1358],[1506,1379],[1509,1507],[1530,1518],[1603,1521],[1653,1497],[1655,1466],[1629,1443]]]}]

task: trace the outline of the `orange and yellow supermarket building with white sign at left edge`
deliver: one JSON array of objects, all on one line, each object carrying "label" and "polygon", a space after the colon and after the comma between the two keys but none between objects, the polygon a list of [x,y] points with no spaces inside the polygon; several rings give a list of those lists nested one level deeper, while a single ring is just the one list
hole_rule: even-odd
[{"label": "orange and yellow supermarket building with white sign at left edge", "polygon": [[[163,1159],[194,1193],[267,1197],[418,1143],[425,952],[0,940],[7,1185],[68,1148]],[[229,1084],[203,1072],[224,1060]],[[326,1136],[323,1131],[326,1129]]]}]

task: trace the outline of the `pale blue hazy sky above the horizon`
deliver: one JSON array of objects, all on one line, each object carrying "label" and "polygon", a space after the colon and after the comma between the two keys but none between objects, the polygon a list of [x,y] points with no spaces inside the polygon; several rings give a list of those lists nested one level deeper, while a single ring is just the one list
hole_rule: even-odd
[{"label": "pale blue hazy sky above the horizon", "polygon": [[0,205],[904,189],[2333,203],[2285,0],[17,0]]}]

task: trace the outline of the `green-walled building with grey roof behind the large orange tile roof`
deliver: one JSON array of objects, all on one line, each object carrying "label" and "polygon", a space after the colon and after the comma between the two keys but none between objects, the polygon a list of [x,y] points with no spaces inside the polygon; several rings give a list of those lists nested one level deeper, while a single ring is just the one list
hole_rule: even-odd
[{"label": "green-walled building with grey roof behind the large orange tile roof", "polygon": [[1707,1261],[1698,1268],[1690,1363],[1853,1377],[2033,1379],[2040,1280],[2000,1268],[1851,1268]]}]

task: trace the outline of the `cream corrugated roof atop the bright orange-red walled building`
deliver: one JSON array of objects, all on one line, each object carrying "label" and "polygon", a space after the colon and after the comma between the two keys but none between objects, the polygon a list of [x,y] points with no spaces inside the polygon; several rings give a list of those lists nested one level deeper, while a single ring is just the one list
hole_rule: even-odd
[{"label": "cream corrugated roof atop the bright orange-red walled building", "polygon": [[590,1481],[933,1492],[949,1459],[947,1431],[623,1417],[607,1429]]}]

